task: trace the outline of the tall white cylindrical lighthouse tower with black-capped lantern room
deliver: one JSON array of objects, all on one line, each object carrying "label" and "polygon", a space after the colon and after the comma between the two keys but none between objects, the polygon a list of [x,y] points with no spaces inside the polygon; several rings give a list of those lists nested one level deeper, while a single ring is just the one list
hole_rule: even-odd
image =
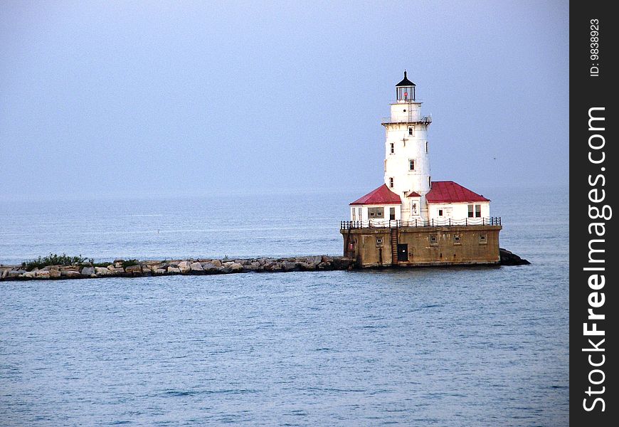
[{"label": "tall white cylindrical lighthouse tower with black-capped lantern room", "polygon": [[421,115],[415,83],[404,78],[396,85],[396,100],[391,116],[382,120],[385,127],[385,184],[401,197],[401,218],[411,221],[428,218],[425,194],[431,188],[428,126],[430,116]]}]

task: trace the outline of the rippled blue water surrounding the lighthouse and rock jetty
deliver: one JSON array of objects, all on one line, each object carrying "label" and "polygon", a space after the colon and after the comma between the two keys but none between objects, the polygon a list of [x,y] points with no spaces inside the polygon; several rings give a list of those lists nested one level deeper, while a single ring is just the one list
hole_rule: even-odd
[{"label": "rippled blue water surrounding the lighthouse and rock jetty", "polygon": [[[482,190],[532,265],[0,283],[0,424],[565,426],[567,188]],[[339,254],[354,196],[2,204],[0,263]]]}]

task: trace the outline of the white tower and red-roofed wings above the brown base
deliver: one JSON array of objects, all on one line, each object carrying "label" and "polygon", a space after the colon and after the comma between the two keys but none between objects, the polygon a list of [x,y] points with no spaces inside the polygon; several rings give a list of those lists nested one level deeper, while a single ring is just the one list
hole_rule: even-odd
[{"label": "white tower and red-roofed wings above the brown base", "polygon": [[351,221],[386,226],[398,221],[411,226],[484,223],[490,200],[453,181],[432,181],[428,127],[432,117],[421,114],[416,85],[396,85],[391,115],[385,127],[384,184],[350,204]]}]

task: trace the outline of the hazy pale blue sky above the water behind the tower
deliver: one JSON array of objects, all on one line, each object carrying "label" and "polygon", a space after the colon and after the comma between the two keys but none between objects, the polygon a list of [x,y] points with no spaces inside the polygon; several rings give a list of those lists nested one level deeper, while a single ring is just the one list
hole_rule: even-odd
[{"label": "hazy pale blue sky above the water behind the tower", "polygon": [[568,182],[568,1],[4,0],[0,192],[364,194],[404,68],[434,180]]}]

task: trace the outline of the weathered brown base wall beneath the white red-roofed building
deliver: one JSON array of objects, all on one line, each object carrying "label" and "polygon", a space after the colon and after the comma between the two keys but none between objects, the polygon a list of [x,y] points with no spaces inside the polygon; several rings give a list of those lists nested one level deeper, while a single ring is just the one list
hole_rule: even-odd
[{"label": "weathered brown base wall beneath the white red-roofed building", "polygon": [[[501,229],[501,226],[393,228],[398,233],[398,243],[408,245],[408,260],[396,264],[403,267],[497,264]],[[341,233],[344,255],[356,258],[358,265],[392,265],[391,228],[357,228]],[[480,236],[485,239],[480,241]],[[376,238],[383,239],[382,246],[377,245]]]}]

